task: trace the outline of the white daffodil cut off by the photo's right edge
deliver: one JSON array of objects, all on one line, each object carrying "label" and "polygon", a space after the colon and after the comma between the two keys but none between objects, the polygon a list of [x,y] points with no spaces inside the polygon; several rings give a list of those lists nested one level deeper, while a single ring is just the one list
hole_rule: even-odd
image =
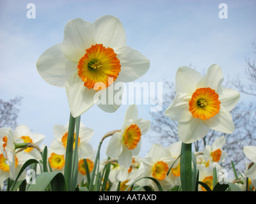
[{"label": "white daffodil cut off by the photo's right edge", "polygon": [[256,146],[244,146],[244,154],[252,161],[245,175],[250,179],[256,179]]}]

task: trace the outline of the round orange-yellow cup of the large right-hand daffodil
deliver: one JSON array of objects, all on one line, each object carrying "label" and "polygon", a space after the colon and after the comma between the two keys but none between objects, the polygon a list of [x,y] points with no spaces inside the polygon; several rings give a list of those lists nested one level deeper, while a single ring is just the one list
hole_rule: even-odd
[{"label": "round orange-yellow cup of the large right-hand daffodil", "polygon": [[189,101],[189,111],[193,117],[202,120],[210,119],[220,110],[219,95],[214,89],[196,89]]}]

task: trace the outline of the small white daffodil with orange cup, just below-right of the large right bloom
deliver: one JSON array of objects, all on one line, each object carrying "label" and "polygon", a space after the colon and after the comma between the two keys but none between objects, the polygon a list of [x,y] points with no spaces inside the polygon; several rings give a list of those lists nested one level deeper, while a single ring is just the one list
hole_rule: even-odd
[{"label": "small white daffodil with orange cup, just below-right of the large right bloom", "polygon": [[222,163],[225,160],[225,156],[227,156],[227,152],[223,150],[223,146],[225,145],[225,137],[221,136],[220,138],[216,138],[211,145],[206,145],[204,149],[204,159],[206,161],[206,167],[209,163],[216,162]]}]

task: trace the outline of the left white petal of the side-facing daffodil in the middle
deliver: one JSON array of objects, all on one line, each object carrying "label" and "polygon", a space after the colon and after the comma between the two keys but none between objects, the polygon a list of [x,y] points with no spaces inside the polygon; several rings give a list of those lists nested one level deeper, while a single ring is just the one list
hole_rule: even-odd
[{"label": "left white petal of the side-facing daffodil in the middle", "polygon": [[120,155],[120,150],[122,147],[122,136],[121,133],[115,133],[111,136],[108,147],[106,149],[106,155],[111,159],[116,159]]}]

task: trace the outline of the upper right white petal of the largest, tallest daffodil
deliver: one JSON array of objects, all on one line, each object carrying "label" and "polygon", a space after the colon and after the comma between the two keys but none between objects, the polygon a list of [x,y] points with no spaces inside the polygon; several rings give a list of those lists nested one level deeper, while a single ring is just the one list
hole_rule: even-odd
[{"label": "upper right white petal of the largest, tallest daffodil", "polygon": [[93,23],[95,25],[95,41],[104,47],[122,47],[126,45],[125,31],[118,18],[105,15]]}]

